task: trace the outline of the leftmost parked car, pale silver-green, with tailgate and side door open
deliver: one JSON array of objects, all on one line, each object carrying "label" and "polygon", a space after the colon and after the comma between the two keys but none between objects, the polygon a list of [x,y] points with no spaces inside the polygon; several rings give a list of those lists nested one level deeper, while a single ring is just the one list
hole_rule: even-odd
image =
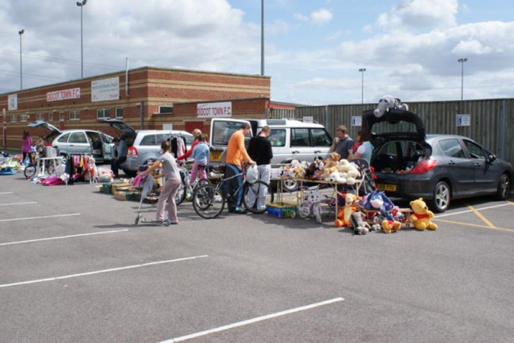
[{"label": "leftmost parked car, pale silver-green, with tailgate and side door open", "polygon": [[87,129],[60,130],[45,121],[36,121],[28,124],[31,128],[42,128],[48,132],[43,139],[57,149],[57,154],[68,156],[71,154],[91,155],[98,162],[111,161],[113,137],[102,131]]}]

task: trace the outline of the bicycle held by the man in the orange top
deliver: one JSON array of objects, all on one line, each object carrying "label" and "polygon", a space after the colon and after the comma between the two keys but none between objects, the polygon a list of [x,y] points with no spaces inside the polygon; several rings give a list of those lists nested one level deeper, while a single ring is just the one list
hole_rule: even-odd
[{"label": "bicycle held by the man in the orange top", "polygon": [[[225,166],[220,166],[224,168]],[[227,197],[235,198],[243,187],[243,205],[246,209],[255,214],[266,212],[266,207],[259,208],[257,206],[259,200],[264,200],[264,203],[273,202],[273,190],[271,186],[264,181],[255,181],[249,183],[244,179],[239,187],[233,194],[225,195],[226,182],[236,177],[243,176],[245,178],[246,172],[231,176],[226,179],[221,179],[216,185],[205,184],[200,186],[193,193],[193,208],[195,212],[202,218],[213,219],[219,216],[225,208]],[[264,199],[263,199],[264,198]]]}]

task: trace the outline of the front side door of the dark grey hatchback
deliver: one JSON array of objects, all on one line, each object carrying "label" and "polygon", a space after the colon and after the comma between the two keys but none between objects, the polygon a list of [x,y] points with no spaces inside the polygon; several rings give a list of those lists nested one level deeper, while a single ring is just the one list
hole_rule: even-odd
[{"label": "front side door of the dark grey hatchback", "polygon": [[498,164],[487,162],[488,154],[480,145],[467,139],[462,141],[473,165],[475,190],[487,193],[494,192],[499,180]]}]

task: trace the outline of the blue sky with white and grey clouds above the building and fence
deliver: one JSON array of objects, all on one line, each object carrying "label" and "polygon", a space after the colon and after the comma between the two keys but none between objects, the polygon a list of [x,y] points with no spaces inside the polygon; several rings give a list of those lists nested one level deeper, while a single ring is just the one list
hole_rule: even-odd
[{"label": "blue sky with white and grey clouds above the building and fence", "polygon": [[[80,79],[71,0],[0,1],[0,93]],[[259,0],[88,0],[84,77],[142,66],[260,74]],[[264,0],[271,99],[306,105],[514,96],[511,0]],[[461,64],[458,59],[466,58]],[[364,72],[359,69],[365,68]],[[363,86],[363,91],[362,91]]]}]

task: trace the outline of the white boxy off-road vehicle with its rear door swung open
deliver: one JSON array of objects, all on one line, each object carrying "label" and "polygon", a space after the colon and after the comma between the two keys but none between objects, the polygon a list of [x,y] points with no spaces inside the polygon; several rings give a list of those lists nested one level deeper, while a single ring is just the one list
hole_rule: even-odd
[{"label": "white boxy off-road vehicle with its rear door swung open", "polygon": [[222,149],[216,148],[226,148],[233,132],[245,122],[252,128],[246,139],[247,144],[252,136],[259,134],[263,126],[271,128],[269,140],[273,150],[273,167],[293,159],[311,162],[318,156],[324,158],[332,145],[332,137],[323,125],[316,122],[298,119],[212,119],[210,143],[214,149],[211,151],[211,161],[221,162],[219,150]]}]

